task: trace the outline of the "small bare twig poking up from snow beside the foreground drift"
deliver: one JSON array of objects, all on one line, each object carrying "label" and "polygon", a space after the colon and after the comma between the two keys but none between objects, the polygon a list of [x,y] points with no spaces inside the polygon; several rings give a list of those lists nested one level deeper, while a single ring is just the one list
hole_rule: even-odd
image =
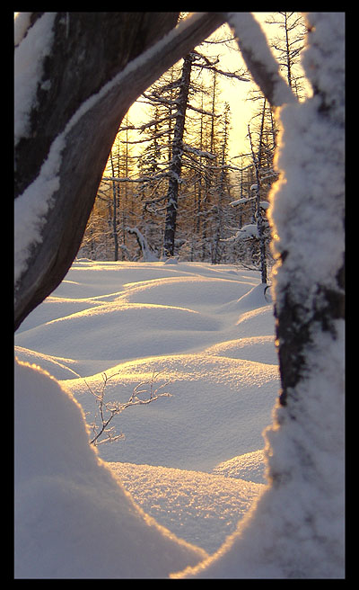
[{"label": "small bare twig poking up from snow beside the foreground drift", "polygon": [[[153,374],[149,380],[141,381],[141,383],[138,383],[138,385],[136,385],[136,387],[133,389],[132,394],[130,398],[127,400],[127,402],[104,400],[108,382],[110,379],[118,375],[118,372],[113,373],[113,375],[110,376],[108,376],[105,372],[101,374],[103,382],[100,392],[93,391],[93,389],[90,387],[87,381],[84,380],[84,382],[87,385],[87,388],[96,398],[98,413],[95,417],[98,416],[100,418],[100,425],[98,425],[96,421],[92,422],[92,424],[90,425],[94,434],[92,440],[90,441],[90,444],[98,446],[102,443],[114,443],[115,441],[124,439],[125,434],[115,434],[115,426],[109,427],[109,423],[114,418],[114,416],[118,416],[118,414],[121,414],[124,410],[126,410],[127,407],[150,404],[158,398],[171,398],[171,393],[169,393],[168,391],[160,392],[160,390],[166,387],[166,385],[168,385],[171,381],[166,381],[165,383],[162,383],[162,385],[159,385],[158,387],[154,388],[155,380],[158,378],[161,372],[162,371],[153,371]],[[144,386],[147,387],[144,388]],[[144,394],[147,394],[146,398],[142,397]],[[106,435],[106,437],[100,440],[102,435]]]}]

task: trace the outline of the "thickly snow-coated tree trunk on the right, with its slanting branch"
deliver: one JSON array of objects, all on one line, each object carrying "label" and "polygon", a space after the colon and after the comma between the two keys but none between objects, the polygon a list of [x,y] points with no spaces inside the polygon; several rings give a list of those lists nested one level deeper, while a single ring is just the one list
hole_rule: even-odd
[{"label": "thickly snow-coated tree trunk on the right, with its slanting branch", "polygon": [[257,24],[240,13],[229,20],[259,82],[267,72],[267,99],[283,105],[270,210],[282,390],[265,433],[269,485],[239,534],[195,575],[342,578],[345,15],[306,14],[313,95],[304,103],[281,92]]}]

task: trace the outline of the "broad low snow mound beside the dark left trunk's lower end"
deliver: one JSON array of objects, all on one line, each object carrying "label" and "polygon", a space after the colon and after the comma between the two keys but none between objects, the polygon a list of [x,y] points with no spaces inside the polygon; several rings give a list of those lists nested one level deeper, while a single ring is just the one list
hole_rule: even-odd
[{"label": "broad low snow mound beside the dark left trunk's lower end", "polygon": [[78,359],[129,359],[187,350],[218,327],[191,309],[112,302],[33,327],[16,342],[27,348],[36,340],[39,352],[55,356],[73,349]]}]

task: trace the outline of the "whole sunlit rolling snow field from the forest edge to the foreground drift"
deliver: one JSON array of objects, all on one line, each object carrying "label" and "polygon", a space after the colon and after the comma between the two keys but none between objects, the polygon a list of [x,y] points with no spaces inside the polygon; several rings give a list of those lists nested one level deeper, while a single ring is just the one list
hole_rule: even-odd
[{"label": "whole sunlit rolling snow field from the forest edge to the foreground drift", "polygon": [[156,386],[169,382],[170,398],[116,416],[126,438],[98,452],[146,514],[209,553],[266,484],[262,432],[279,387],[274,340],[257,272],[83,259],[15,335],[18,359],[66,386],[89,424],[89,388],[101,389],[103,373],[114,375],[108,400],[126,401],[153,373]]}]

